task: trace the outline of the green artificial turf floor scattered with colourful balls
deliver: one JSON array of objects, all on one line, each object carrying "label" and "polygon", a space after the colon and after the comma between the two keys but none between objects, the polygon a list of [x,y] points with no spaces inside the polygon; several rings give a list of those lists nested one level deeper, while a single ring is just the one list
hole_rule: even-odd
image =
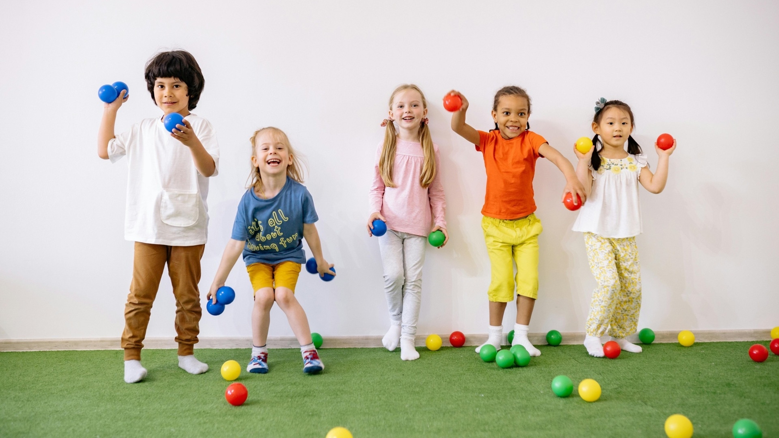
[{"label": "green artificial turf floor scattered with colourful balls", "polygon": [[[270,373],[238,377],[249,400],[224,400],[220,366],[246,366],[249,349],[197,349],[210,370],[178,368],[175,350],[144,350],[149,375],[122,380],[122,351],[0,352],[0,436],[269,436],[322,438],[345,426],[368,436],[654,436],[681,413],[696,437],[729,437],[749,418],[779,436],[779,357],[747,355],[753,342],[645,345],[594,359],[581,345],[542,346],[525,368],[481,362],[473,347],[320,349],[323,373],[305,376],[300,351],[270,351]],[[767,344],[767,342],[762,342]],[[555,397],[565,374],[593,378],[600,400]]]}]

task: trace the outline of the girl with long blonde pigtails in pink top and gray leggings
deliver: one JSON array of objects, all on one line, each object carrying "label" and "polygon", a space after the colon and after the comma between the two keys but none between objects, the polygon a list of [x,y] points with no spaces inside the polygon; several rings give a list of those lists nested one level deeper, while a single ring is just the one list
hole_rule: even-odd
[{"label": "girl with long blonde pigtails in pink top and gray leggings", "polygon": [[[384,292],[390,308],[390,330],[382,344],[394,351],[400,342],[400,359],[419,359],[414,348],[422,291],[425,241],[432,231],[445,236],[446,200],[441,185],[439,148],[428,129],[427,101],[419,87],[401,85],[390,97],[390,117],[384,141],[376,151],[375,175],[369,195],[373,221],[386,222],[379,237],[384,267]],[[395,129],[397,125],[397,131]]]}]

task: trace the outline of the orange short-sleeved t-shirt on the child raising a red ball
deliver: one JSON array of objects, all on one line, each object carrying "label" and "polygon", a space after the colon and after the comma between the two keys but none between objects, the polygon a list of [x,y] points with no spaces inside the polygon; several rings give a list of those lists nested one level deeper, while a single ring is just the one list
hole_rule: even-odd
[{"label": "orange short-sleeved t-shirt on the child raising a red ball", "polygon": [[500,131],[479,131],[476,150],[485,157],[487,193],[481,214],[495,219],[518,219],[535,211],[533,176],[538,148],[544,137],[525,131],[511,140],[504,140]]}]

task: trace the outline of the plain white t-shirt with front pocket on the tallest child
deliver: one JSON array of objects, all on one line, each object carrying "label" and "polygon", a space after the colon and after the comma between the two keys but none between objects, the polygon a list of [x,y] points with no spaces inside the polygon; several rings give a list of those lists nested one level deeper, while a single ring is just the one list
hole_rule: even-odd
[{"label": "plain white t-shirt with front pocket on the tallest child", "polygon": [[[211,124],[190,114],[185,119],[213,157],[219,171],[219,144]],[[127,156],[125,239],[158,245],[206,243],[208,178],[200,175],[189,147],[171,137],[162,118],[145,118],[108,142],[111,163]]]}]

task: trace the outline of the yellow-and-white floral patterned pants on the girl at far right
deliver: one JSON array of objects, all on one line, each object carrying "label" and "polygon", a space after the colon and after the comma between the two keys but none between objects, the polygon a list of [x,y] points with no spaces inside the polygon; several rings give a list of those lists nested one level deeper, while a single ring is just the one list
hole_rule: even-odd
[{"label": "yellow-and-white floral patterned pants on the girl at far right", "polygon": [[636,238],[605,238],[584,233],[587,259],[597,281],[587,334],[626,337],[636,333],[641,309],[641,267]]}]

